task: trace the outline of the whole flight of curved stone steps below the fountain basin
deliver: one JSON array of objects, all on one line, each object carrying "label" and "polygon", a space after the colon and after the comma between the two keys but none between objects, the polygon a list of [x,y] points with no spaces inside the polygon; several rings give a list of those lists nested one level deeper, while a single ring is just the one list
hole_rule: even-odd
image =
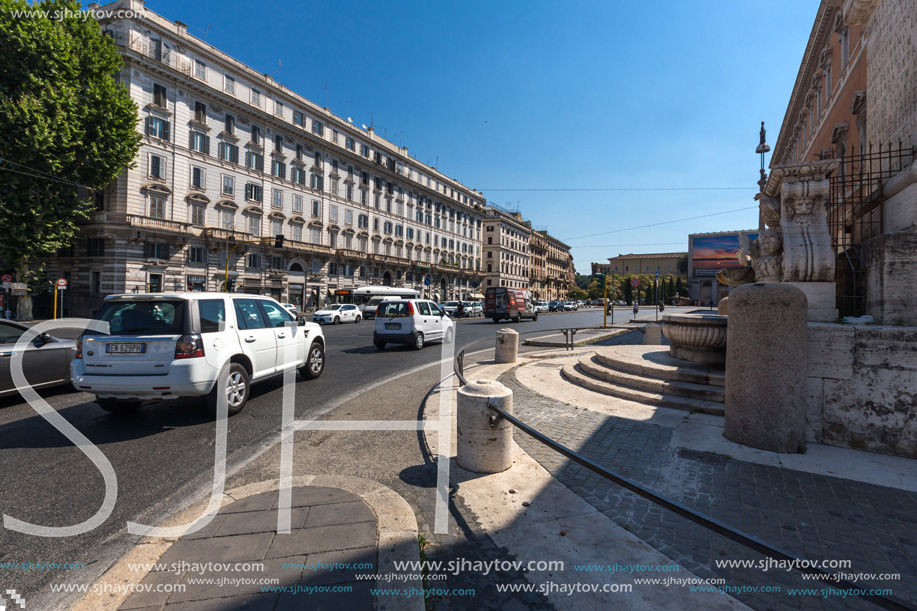
[{"label": "whole flight of curved stone steps below the fountain basin", "polygon": [[565,365],[563,376],[596,392],[659,407],[722,416],[721,367],[681,361],[667,346],[609,346]]}]

